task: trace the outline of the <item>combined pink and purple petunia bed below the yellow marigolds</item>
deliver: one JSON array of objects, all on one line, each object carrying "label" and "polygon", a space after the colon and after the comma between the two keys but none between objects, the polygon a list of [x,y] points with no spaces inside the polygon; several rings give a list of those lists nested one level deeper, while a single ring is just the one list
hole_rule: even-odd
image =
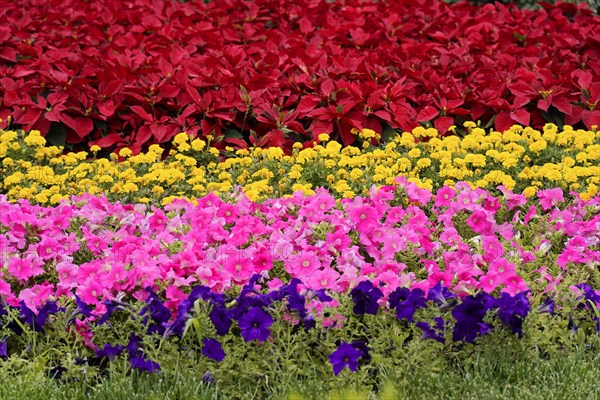
[{"label": "combined pink and purple petunia bed below the yellow marigolds", "polygon": [[[600,330],[600,197],[565,201],[548,189],[528,202],[465,183],[437,193],[398,184],[341,202],[325,190],[262,204],[209,195],[164,211],[91,195],[57,207],[0,196],[0,355],[66,330],[84,363],[120,357],[157,371],[157,341],[191,337],[219,362],[221,341],[283,340],[272,326],[318,340],[303,336],[316,327],[348,339],[313,354],[337,375],[368,365],[370,349],[383,354],[375,335],[399,321],[401,335],[417,329],[441,344],[502,326],[534,343],[549,326],[579,327],[582,340]],[[556,319],[527,325],[532,307]],[[357,331],[361,315],[382,319],[360,319]]]}]

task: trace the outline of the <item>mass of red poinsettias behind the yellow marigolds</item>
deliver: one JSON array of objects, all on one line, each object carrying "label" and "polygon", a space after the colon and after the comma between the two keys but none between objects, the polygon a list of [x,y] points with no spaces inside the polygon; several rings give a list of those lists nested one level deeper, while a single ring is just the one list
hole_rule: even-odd
[{"label": "mass of red poinsettias behind the yellow marigolds", "polygon": [[[600,18],[443,1],[30,0],[0,8],[0,118],[84,147],[600,122]],[[62,143],[61,143],[62,144]]]}]

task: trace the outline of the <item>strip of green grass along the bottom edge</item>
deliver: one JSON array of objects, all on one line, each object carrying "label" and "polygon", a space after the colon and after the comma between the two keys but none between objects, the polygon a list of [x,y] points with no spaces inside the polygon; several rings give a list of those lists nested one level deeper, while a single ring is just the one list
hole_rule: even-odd
[{"label": "strip of green grass along the bottom edge", "polygon": [[[12,371],[12,372],[11,372]],[[2,399],[229,399],[227,387],[203,382],[202,373],[163,371],[147,374],[113,375],[100,383],[61,383],[44,376],[35,364],[19,371],[0,368]],[[329,381],[290,382],[287,387],[271,387],[270,393],[251,388],[244,398],[262,399],[593,399],[598,395],[600,355],[571,352],[550,360],[510,359],[502,349],[486,351],[470,361],[456,363],[440,371],[427,367],[409,368],[402,373],[380,371],[380,387],[361,387],[354,382],[330,390]],[[375,390],[371,390],[375,389]]]}]

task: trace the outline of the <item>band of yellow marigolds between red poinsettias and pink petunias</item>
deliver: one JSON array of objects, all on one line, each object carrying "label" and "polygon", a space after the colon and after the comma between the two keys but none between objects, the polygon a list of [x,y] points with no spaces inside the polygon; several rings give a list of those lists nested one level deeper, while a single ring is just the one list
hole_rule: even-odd
[{"label": "band of yellow marigolds between red poinsettias and pink petunias", "polygon": [[211,191],[228,193],[239,185],[252,200],[312,194],[325,187],[337,197],[366,194],[373,185],[389,185],[405,175],[430,190],[457,181],[494,189],[504,185],[533,196],[538,189],[561,187],[592,197],[600,186],[600,132],[562,130],[547,124],[542,131],[513,126],[486,132],[472,122],[468,134],[438,137],[433,128],[415,128],[379,144],[380,136],[357,132],[360,147],[343,148],[326,134],[312,148],[297,143],[291,155],[279,148],[251,148],[225,155],[201,139],[180,133],[165,159],[163,148],[133,155],[98,158],[100,150],[62,154],[46,146],[37,131],[0,130],[0,193],[11,201],[29,199],[56,204],[68,195],[104,193],[111,200],[167,204],[174,198],[193,199]]}]

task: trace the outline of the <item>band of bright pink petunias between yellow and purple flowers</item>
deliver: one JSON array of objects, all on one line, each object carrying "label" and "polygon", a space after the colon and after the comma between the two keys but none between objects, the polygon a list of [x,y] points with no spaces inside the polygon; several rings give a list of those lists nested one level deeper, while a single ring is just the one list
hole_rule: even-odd
[{"label": "band of bright pink petunias between yellow and purple flowers", "polygon": [[397,181],[339,202],[319,189],[262,204],[210,194],[164,210],[91,195],[57,207],[0,195],[0,296],[37,310],[77,294],[101,312],[104,300],[145,299],[149,286],[175,310],[190,286],[223,292],[255,273],[275,278],[271,288],[297,277],[339,292],[369,279],[385,298],[440,281],[459,296],[514,295],[552,291],[573,268],[600,263],[600,196],[549,189],[532,202],[503,187],[500,196],[466,183],[432,194]]}]

